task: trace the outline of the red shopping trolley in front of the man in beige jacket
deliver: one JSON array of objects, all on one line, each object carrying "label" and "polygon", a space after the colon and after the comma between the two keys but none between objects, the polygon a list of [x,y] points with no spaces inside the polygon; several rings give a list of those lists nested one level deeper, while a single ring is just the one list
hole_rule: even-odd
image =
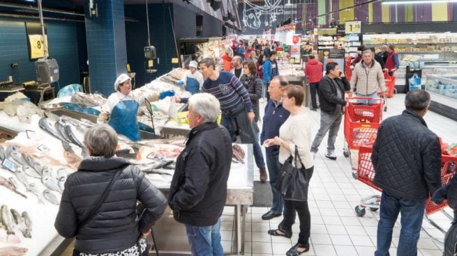
[{"label": "red shopping trolley in front of the man in beige jacket", "polygon": [[[352,97],[347,99],[344,117],[345,147],[343,154],[349,157],[352,177],[357,179],[357,150],[360,145],[373,143],[382,120],[384,99]],[[351,151],[354,153],[352,157]]]}]

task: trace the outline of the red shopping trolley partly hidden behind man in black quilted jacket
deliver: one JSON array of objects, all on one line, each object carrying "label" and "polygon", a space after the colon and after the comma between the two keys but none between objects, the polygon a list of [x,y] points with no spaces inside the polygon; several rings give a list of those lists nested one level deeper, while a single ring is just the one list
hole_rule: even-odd
[{"label": "red shopping trolley partly hidden behind man in black quilted jacket", "polygon": [[[380,187],[376,186],[373,183],[375,179],[375,169],[373,168],[373,163],[371,162],[371,153],[373,152],[373,145],[361,145],[359,147],[359,167],[357,168],[357,179],[367,184],[368,186],[376,189],[377,191],[382,191]],[[451,181],[452,176],[457,171],[457,166],[455,163],[457,162],[457,156],[449,156],[443,154],[441,157],[441,182],[442,186],[445,186],[448,182]],[[454,165],[452,164],[454,163]],[[361,217],[366,214],[365,208],[369,208],[371,211],[377,211],[381,205],[381,196],[380,195],[370,195],[365,198],[361,198],[360,205],[355,207],[355,213],[357,216]],[[428,218],[429,215],[434,214],[437,211],[441,211],[442,214],[447,216],[449,219],[454,218],[454,216],[450,216],[447,214],[446,211],[443,211],[445,207],[447,207],[447,201],[444,200],[442,204],[437,205],[435,204],[430,196],[426,200],[426,209],[425,209],[425,217],[428,222],[436,227],[441,232],[446,233],[442,227],[437,225],[433,220]]]}]

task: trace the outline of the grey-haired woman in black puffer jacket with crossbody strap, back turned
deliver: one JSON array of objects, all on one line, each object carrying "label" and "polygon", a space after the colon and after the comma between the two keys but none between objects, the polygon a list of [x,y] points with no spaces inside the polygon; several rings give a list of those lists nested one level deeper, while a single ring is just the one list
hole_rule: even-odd
[{"label": "grey-haired woman in black puffer jacket with crossbody strap, back turned", "polygon": [[[138,168],[114,157],[117,134],[110,126],[89,129],[84,145],[90,157],[68,176],[54,227],[62,237],[76,237],[73,255],[140,255],[165,211],[164,195]],[[145,207],[140,216],[137,200]]]}]

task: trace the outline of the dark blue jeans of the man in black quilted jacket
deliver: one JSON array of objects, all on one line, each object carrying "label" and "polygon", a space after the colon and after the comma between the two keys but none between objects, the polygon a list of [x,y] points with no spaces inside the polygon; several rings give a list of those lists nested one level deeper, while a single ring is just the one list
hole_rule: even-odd
[{"label": "dark blue jeans of the man in black quilted jacket", "polygon": [[401,213],[401,230],[397,255],[417,255],[417,241],[419,241],[419,232],[424,218],[425,203],[426,200],[395,198],[382,192],[375,256],[389,256],[392,230],[398,213]]}]

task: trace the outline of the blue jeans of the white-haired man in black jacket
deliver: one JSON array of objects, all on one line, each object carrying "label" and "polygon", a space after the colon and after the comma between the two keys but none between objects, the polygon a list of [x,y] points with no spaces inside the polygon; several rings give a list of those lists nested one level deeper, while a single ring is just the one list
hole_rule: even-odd
[{"label": "blue jeans of the white-haired man in black jacket", "polygon": [[186,224],[186,232],[192,255],[224,255],[220,244],[220,218],[212,226],[197,227]]}]

